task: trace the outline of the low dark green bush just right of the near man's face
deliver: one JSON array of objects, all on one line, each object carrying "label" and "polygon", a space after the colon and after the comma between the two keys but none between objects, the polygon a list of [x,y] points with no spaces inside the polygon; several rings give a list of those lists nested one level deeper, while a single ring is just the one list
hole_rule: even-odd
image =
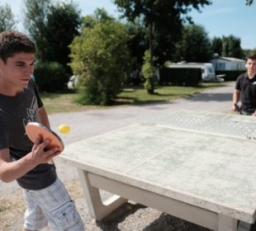
[{"label": "low dark green bush just right of the near man's face", "polygon": [[64,66],[56,62],[36,64],[34,75],[40,92],[63,90],[69,81]]}]

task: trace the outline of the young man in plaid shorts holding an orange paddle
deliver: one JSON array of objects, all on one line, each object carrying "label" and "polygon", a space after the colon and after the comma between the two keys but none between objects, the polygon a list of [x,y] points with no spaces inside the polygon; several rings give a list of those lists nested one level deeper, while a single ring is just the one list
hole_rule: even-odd
[{"label": "young man in plaid shorts holding an orange paddle", "polygon": [[26,200],[24,230],[39,230],[48,223],[54,230],[81,231],[83,221],[55,165],[58,148],[45,150],[49,140],[35,144],[27,137],[26,125],[40,122],[50,127],[35,82],[36,47],[17,31],[0,33],[0,180],[17,180]]}]

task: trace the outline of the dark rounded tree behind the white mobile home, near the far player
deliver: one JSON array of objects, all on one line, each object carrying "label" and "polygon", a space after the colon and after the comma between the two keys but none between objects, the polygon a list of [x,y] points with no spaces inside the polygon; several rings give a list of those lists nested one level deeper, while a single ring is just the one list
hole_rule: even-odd
[{"label": "dark rounded tree behind the white mobile home, near the far player", "polygon": [[235,35],[222,36],[222,56],[243,59],[241,40]]}]

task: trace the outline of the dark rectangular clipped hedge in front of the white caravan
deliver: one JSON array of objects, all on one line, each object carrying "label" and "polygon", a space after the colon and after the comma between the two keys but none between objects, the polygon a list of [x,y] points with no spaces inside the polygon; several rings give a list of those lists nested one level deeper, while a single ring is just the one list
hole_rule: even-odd
[{"label": "dark rectangular clipped hedge in front of the white caravan", "polygon": [[201,68],[162,68],[161,85],[197,86],[201,83]]}]

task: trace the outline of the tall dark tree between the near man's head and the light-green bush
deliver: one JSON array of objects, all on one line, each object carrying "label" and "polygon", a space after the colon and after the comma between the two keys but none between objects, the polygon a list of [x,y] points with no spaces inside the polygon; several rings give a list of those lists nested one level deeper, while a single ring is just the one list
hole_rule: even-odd
[{"label": "tall dark tree between the near man's head and the light-green bush", "polygon": [[26,0],[26,29],[36,42],[43,62],[58,62],[71,73],[69,45],[79,33],[81,16],[73,2]]}]

